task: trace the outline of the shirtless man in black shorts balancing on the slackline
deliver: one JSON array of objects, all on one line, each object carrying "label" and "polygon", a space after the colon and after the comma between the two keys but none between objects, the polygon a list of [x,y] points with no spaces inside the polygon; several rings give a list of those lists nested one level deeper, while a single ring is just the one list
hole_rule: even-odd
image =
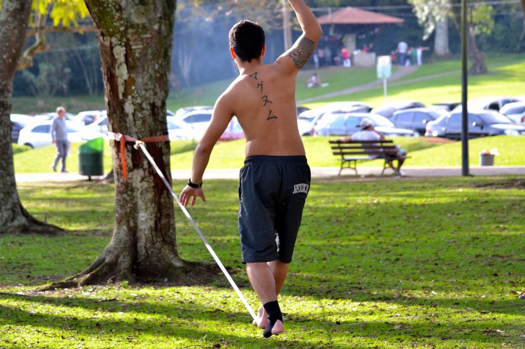
[{"label": "shirtless man in black shorts balancing on the slackline", "polygon": [[[277,302],[288,272],[310,187],[310,168],[297,128],[297,72],[321,37],[321,27],[302,0],[289,0],[303,34],[273,64],[262,64],[264,30],[242,20],[230,30],[230,52],[239,69],[215,103],[212,120],[195,149],[183,205],[206,201],[202,177],[213,146],[234,115],[246,137],[240,170],[239,235],[242,261],[261,306],[253,324],[270,337],[285,331]],[[277,237],[276,237],[277,235]]]}]

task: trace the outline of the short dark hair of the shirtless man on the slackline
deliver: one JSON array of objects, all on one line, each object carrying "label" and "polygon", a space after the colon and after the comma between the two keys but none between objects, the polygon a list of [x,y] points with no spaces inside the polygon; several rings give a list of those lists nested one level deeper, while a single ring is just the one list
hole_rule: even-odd
[{"label": "short dark hair of the shirtless man on the slackline", "polygon": [[265,45],[264,30],[255,22],[241,20],[230,30],[229,43],[241,61],[251,62],[261,57]]}]

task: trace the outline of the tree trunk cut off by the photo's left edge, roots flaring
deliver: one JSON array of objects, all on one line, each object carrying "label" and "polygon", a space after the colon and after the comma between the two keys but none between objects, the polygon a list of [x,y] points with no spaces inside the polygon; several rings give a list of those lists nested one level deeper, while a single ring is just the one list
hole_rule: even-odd
[{"label": "tree trunk cut off by the photo's left edge, roots flaring", "polygon": [[9,115],[13,79],[27,30],[31,0],[4,0],[0,13],[0,233],[47,233],[60,228],[39,222],[22,206],[16,190]]}]

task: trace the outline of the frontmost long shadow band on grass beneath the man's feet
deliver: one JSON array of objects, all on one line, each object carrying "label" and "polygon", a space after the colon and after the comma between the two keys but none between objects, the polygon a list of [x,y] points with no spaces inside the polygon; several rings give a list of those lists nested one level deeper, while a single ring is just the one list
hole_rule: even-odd
[{"label": "frontmost long shadow band on grass beneath the man's feet", "polygon": [[[205,298],[205,297],[203,297]],[[260,347],[279,347],[279,344],[293,342],[293,347],[310,347],[304,337],[311,333],[321,332],[324,334],[324,344],[331,348],[348,347],[344,344],[338,344],[339,337],[352,336],[363,339],[373,339],[386,341],[388,343],[396,340],[406,341],[411,337],[417,337],[418,342],[438,343],[440,341],[480,341],[485,343],[505,343],[510,338],[499,336],[488,336],[491,334],[487,330],[494,328],[495,321],[479,320],[474,322],[450,323],[447,320],[440,321],[439,318],[428,316],[407,318],[386,318],[378,321],[337,321],[337,320],[320,320],[314,317],[304,317],[297,314],[285,314],[285,322],[289,334],[304,333],[304,337],[295,336],[291,341],[283,340],[279,342],[259,342],[258,338],[261,330],[255,329],[250,324],[250,319],[246,315],[232,312],[225,312],[220,309],[202,310],[204,304],[179,303],[176,306],[164,306],[158,303],[149,303],[141,301],[122,302],[119,300],[95,300],[86,298],[61,298],[49,296],[21,296],[12,293],[3,293],[0,299],[12,299],[17,301],[29,301],[45,304],[53,307],[68,307],[71,312],[75,308],[82,308],[95,314],[81,315],[54,315],[38,311],[27,311],[14,307],[0,306],[0,313],[4,314],[2,323],[4,325],[19,326],[20,324],[31,325],[36,328],[53,328],[61,331],[74,330],[80,336],[99,335],[101,339],[104,336],[130,336],[133,334],[149,334],[152,336],[170,336],[186,338],[188,340],[198,340],[207,337],[208,341],[219,341],[226,339],[229,342],[243,344],[250,341],[257,341]],[[100,312],[100,314],[97,314]],[[119,319],[107,319],[108,313],[142,313],[144,315],[159,315],[165,318],[153,318],[151,320],[139,320],[131,318],[129,321]],[[105,318],[98,318],[97,315],[104,315]],[[330,315],[334,315],[331,313]],[[341,314],[344,315],[344,314]],[[322,316],[321,316],[322,318]],[[216,330],[204,330],[202,322],[212,321],[217,323]],[[245,325],[243,325],[245,324]],[[230,326],[245,327],[246,336],[239,336],[228,331]],[[253,336],[251,339],[248,336]],[[293,336],[292,336],[293,337]],[[304,341],[299,341],[301,337]],[[313,337],[313,336],[312,336]],[[407,338],[408,337],[408,338]],[[519,341],[518,338],[515,338]],[[470,342],[471,343],[471,342]],[[247,344],[247,343],[246,343]],[[317,343],[315,347],[327,347]]]}]

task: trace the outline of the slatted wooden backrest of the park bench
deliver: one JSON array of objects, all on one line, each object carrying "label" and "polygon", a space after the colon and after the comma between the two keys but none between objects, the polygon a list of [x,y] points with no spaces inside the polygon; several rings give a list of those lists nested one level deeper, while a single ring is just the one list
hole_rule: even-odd
[{"label": "slatted wooden backrest of the park bench", "polygon": [[392,140],[330,140],[333,155],[395,155],[396,146]]}]

